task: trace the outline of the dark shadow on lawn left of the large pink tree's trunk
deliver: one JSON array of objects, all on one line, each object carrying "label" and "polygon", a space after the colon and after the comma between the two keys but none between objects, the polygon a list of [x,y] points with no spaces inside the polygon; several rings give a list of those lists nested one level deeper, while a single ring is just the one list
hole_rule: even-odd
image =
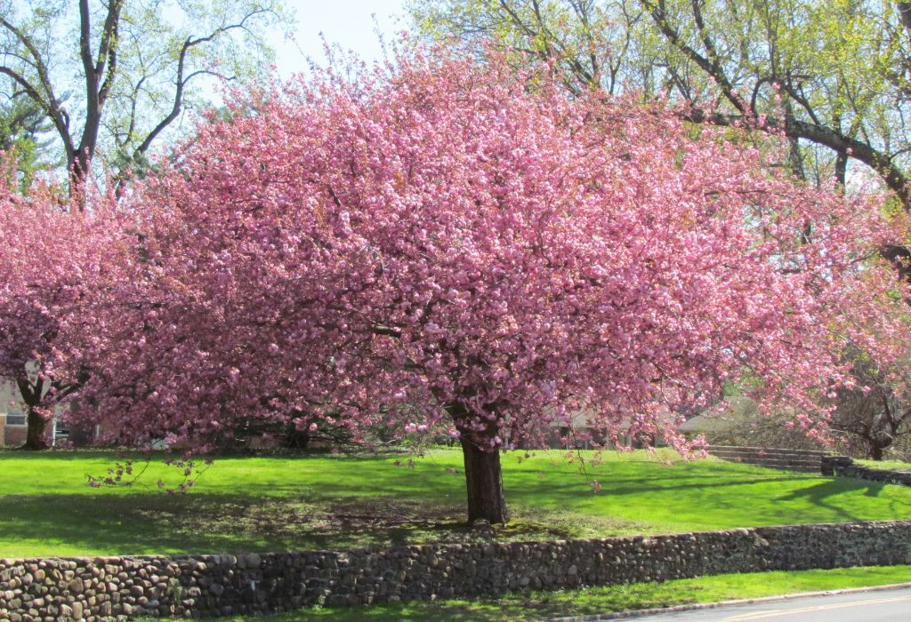
[{"label": "dark shadow on lawn left of the large pink tree's trunk", "polygon": [[[412,508],[413,510],[414,508]],[[395,508],[389,511],[394,512]],[[287,499],[228,495],[128,495],[0,499],[4,539],[43,540],[41,548],[91,554],[237,553],[394,546],[466,532],[455,516],[368,521]],[[382,516],[381,512],[376,513]],[[436,534],[436,535],[435,535]],[[456,538],[457,539],[457,538]]]}]

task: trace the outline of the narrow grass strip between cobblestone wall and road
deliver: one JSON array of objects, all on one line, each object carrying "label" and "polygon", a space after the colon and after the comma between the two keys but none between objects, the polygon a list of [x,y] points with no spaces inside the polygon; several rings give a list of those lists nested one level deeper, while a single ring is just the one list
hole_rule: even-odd
[{"label": "narrow grass strip between cobblestone wall and road", "polygon": [[[869,587],[911,581],[911,566],[856,567],[800,572],[763,572],[678,579],[666,583],[633,583],[624,586],[587,587],[555,592],[528,592],[501,597],[410,602],[371,607],[301,609],[263,617],[223,617],[216,622],[293,622],[294,620],[533,620],[558,616],[712,603],[816,592],[848,587]],[[151,622],[151,621],[149,621]]]}]

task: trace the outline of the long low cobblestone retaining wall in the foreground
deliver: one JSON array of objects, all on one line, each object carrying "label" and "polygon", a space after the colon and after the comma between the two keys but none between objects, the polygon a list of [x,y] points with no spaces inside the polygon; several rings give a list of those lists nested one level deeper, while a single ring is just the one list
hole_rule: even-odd
[{"label": "long low cobblestone retaining wall in the foreground", "polygon": [[727,572],[911,563],[911,521],[268,555],[0,560],[0,618],[216,616]]}]

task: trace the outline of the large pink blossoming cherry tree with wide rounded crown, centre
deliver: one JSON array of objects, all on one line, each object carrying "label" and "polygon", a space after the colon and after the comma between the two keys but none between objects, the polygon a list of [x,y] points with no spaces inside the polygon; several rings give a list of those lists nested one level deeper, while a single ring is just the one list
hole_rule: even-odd
[{"label": "large pink blossoming cherry tree with wide rounded crown, centre", "polygon": [[579,411],[685,450],[666,413],[747,375],[821,434],[849,382],[834,309],[898,287],[876,209],[660,109],[569,101],[546,67],[415,53],[229,113],[132,199],[136,304],[99,320],[80,415],[121,441],[443,429],[469,520],[505,521],[498,450]]}]

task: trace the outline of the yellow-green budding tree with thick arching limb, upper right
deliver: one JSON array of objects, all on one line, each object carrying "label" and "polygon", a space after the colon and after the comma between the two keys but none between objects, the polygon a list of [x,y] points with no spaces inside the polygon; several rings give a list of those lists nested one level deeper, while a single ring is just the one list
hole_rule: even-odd
[{"label": "yellow-green budding tree with thick arching limb, upper right", "polygon": [[558,62],[571,89],[667,92],[791,140],[798,176],[868,166],[911,207],[911,8],[886,0],[415,0],[425,32]]}]

